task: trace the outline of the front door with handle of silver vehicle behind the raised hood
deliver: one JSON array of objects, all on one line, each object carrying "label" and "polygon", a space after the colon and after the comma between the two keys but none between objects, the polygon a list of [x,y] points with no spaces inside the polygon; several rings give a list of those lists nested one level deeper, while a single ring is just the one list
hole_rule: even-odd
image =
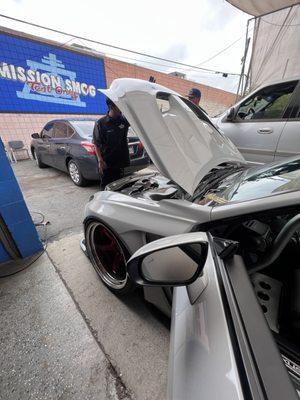
[{"label": "front door with handle of silver vehicle behind the raised hood", "polygon": [[226,116],[218,123],[245,159],[255,163],[271,162],[287,123],[288,109],[297,80],[266,86],[240,102],[232,120]]}]

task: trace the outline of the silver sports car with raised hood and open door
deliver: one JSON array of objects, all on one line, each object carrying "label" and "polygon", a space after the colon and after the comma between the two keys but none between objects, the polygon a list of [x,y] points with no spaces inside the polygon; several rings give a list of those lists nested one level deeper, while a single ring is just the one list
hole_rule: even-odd
[{"label": "silver sports car with raised hood and open door", "polygon": [[300,157],[249,168],[177,93],[134,79],[104,92],[159,172],[91,197],[87,251],[113,292],[142,284],[147,301],[167,314],[173,299],[169,397],[296,398]]}]

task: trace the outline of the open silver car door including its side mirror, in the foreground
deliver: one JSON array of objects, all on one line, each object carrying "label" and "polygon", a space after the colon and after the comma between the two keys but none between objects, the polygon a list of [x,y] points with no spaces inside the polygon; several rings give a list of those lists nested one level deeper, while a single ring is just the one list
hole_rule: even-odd
[{"label": "open silver car door including its side mirror, in the foreground", "polygon": [[168,399],[298,399],[238,243],[192,232],[150,242],[131,279],[174,288]]}]

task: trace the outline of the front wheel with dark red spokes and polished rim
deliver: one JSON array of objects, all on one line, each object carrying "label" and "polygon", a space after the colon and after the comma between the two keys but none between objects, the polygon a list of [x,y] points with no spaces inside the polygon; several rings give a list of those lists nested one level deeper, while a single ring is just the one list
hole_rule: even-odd
[{"label": "front wheel with dark red spokes and polished rim", "polygon": [[134,288],[127,274],[128,252],[105,225],[91,221],[86,227],[86,245],[92,264],[102,282],[116,294]]}]

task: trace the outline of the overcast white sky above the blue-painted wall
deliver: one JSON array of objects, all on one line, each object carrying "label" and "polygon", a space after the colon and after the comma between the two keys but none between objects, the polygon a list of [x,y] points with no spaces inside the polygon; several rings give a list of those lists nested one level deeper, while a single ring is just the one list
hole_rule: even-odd
[{"label": "overcast white sky above the blue-painted wall", "polygon": [[[225,0],[6,0],[1,6],[2,14],[15,18],[127,49],[234,73],[241,69],[246,25],[250,18]],[[45,34],[3,18],[0,23],[63,42],[71,39]],[[227,51],[205,62],[236,40],[237,43]],[[237,87],[236,77],[224,78],[219,74],[142,64],[143,60],[163,63],[88,42],[80,44],[96,47],[106,54],[137,59],[140,65],[153,69],[186,72],[190,79],[225,90],[235,91]]]}]

